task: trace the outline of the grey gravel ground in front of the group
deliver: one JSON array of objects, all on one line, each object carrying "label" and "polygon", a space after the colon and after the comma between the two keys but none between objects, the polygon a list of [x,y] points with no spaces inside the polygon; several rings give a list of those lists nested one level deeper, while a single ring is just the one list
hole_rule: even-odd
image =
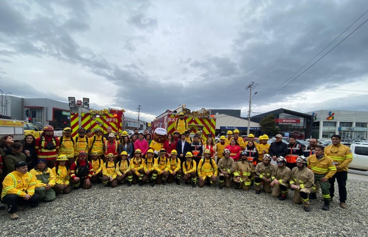
[{"label": "grey gravel ground in front of the group", "polygon": [[1,236],[368,236],[367,182],[348,180],[347,209],[338,199],[323,211],[321,195],[311,212],[270,194],[218,185],[181,183],[117,188],[94,185],[59,195],[52,203],[19,211],[18,220],[0,211]]}]

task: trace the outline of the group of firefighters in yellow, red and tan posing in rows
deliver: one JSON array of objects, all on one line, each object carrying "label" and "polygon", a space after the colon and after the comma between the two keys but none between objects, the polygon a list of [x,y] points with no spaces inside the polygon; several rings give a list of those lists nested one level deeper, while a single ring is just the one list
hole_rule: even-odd
[{"label": "group of firefighters in yellow, red and tan posing in rows", "polygon": [[[198,142],[198,135],[189,143],[183,132],[181,140],[177,140],[176,149],[170,152],[164,148],[158,152],[149,148],[143,153],[140,148],[135,148],[133,157],[128,157],[126,150],[118,153],[120,141],[124,141],[128,136],[126,131],[123,131],[121,139],[118,139],[111,131],[105,136],[101,129],[96,129],[95,135],[88,138],[85,129],[79,128],[78,136],[73,139],[72,129],[65,128],[63,136],[57,139],[53,135],[52,126],[48,125],[43,130],[42,136],[36,139],[36,166],[39,173],[28,173],[27,164],[21,161],[15,164],[15,171],[4,179],[1,198],[8,206],[9,203],[13,205],[10,205],[9,213],[15,213],[18,204],[25,204],[26,201],[34,206],[37,201],[35,197],[39,193],[37,189],[40,187],[42,198],[45,201],[53,201],[55,193],[67,194],[72,188],[80,187],[89,189],[94,182],[103,182],[111,187],[137,183],[139,186],[166,185],[174,181],[180,185],[181,178],[185,184],[193,187],[197,186],[197,182],[199,187],[203,187],[218,181],[220,189],[234,185],[236,189],[249,190],[254,186],[256,194],[261,191],[272,193],[273,197],[282,201],[286,199],[288,190],[292,189],[293,202],[303,204],[305,211],[310,211],[309,199],[316,198],[315,193],[319,188],[324,199],[322,209],[328,210],[332,199],[329,179],[338,178],[340,207],[346,208],[346,188],[341,187],[342,191],[340,190],[341,177],[339,181],[336,173],[347,171],[352,155],[350,149],[340,142],[327,148],[310,143],[310,147],[302,150],[309,152],[306,158],[300,153],[298,146],[291,144],[291,138],[290,144],[286,145],[278,134],[276,142],[270,145],[267,143],[268,136],[263,135],[259,137],[260,143],[257,144],[255,136],[250,134],[249,140],[244,142],[243,138],[239,137],[239,131],[235,129],[233,132],[228,131],[227,138],[220,137],[220,142],[215,145],[215,158],[212,147],[207,149],[203,146],[204,149],[201,150],[202,144]],[[142,139],[143,134],[139,135]],[[334,135],[333,141],[335,137],[340,139],[339,135]],[[193,153],[196,153],[196,156]],[[276,165],[271,164],[271,160],[276,161]],[[51,194],[52,192],[54,194]],[[12,199],[9,195],[12,195]],[[37,196],[39,201],[40,196]]]}]

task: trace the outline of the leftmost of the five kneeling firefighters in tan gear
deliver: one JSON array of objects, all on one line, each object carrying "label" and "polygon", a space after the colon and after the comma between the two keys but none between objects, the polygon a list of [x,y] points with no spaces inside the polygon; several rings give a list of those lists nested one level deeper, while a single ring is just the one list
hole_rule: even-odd
[{"label": "leftmost of the five kneeling firefighters in tan gear", "polygon": [[234,176],[233,172],[235,170],[235,161],[230,157],[230,150],[225,149],[223,152],[223,158],[219,161],[219,179],[220,186],[222,189],[224,186],[229,188],[231,185],[231,177]]}]

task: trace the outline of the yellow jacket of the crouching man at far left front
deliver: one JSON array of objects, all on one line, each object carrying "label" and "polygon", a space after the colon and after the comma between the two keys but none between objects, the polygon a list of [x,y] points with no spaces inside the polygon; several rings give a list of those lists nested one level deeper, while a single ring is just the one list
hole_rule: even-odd
[{"label": "yellow jacket of the crouching man at far left front", "polygon": [[36,177],[27,172],[22,174],[18,171],[9,173],[2,182],[1,200],[7,194],[16,194],[20,197],[32,196],[36,187]]}]

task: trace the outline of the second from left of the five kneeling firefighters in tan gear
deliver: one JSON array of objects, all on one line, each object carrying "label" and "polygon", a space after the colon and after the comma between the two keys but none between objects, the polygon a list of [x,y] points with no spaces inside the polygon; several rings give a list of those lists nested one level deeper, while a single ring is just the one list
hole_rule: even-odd
[{"label": "second from left of the five kneeling firefighters in tan gear", "polygon": [[234,185],[236,189],[249,190],[251,187],[255,166],[251,160],[248,160],[248,154],[247,151],[242,151],[240,159],[235,162]]}]

